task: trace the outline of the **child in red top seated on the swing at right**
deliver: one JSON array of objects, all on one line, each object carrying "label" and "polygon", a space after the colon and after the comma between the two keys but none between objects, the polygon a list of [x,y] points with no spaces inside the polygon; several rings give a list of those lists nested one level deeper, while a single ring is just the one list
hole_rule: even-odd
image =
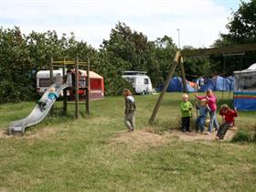
[{"label": "child in red top seated on the swing at right", "polygon": [[238,111],[236,108],[231,110],[227,104],[223,104],[220,108],[219,114],[222,115],[222,117],[224,116],[224,123],[220,124],[216,139],[223,140],[229,128],[234,125],[234,119],[238,116]]}]

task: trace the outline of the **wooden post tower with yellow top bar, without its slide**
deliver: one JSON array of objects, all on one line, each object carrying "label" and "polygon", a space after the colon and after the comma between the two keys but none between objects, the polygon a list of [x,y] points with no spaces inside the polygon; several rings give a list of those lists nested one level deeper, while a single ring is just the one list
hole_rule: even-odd
[{"label": "wooden post tower with yellow top bar, without its slide", "polygon": [[[86,75],[86,85],[84,88],[80,88],[80,76],[79,76],[79,69],[80,66],[83,68],[86,68],[87,75]],[[54,67],[62,68],[63,72],[63,78],[65,77],[65,72],[67,69],[73,69],[75,73],[75,83],[74,85],[70,86],[69,88],[66,88],[63,90],[63,112],[64,114],[67,113],[68,109],[68,102],[67,102],[67,91],[74,90],[75,91],[75,116],[78,119],[79,118],[79,101],[80,101],[80,89],[84,89],[85,91],[85,112],[87,114],[90,113],[90,60],[88,59],[87,62],[79,61],[78,57],[74,60],[62,60],[62,61],[55,61],[53,59],[50,59],[49,63],[49,70],[50,70],[50,80],[51,83],[54,82],[53,80],[53,69]],[[69,102],[71,104],[71,102]],[[53,110],[54,108],[52,108]]]}]

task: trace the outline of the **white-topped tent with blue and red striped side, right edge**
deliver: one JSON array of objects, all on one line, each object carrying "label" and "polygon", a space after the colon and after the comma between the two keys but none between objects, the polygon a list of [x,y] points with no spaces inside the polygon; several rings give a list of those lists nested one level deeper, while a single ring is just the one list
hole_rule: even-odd
[{"label": "white-topped tent with blue and red striped side, right edge", "polygon": [[234,71],[234,106],[240,111],[256,111],[256,63]]}]

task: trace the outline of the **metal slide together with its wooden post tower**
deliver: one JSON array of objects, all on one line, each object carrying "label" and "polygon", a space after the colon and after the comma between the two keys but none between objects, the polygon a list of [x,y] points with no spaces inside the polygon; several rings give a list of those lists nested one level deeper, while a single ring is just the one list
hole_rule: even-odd
[{"label": "metal slide together with its wooden post tower", "polygon": [[[65,77],[65,71],[67,66],[74,66],[74,81],[72,80],[72,74],[69,72],[67,74],[67,80],[63,80]],[[29,126],[33,126],[37,123],[40,123],[44,120],[44,118],[48,115],[48,112],[53,112],[54,109],[54,103],[57,98],[53,98],[48,101],[48,103],[45,105],[44,109],[41,108],[41,103],[45,102],[48,98],[48,94],[51,90],[55,90],[56,94],[59,95],[63,91],[63,112],[67,113],[67,90],[68,89],[75,89],[75,116],[76,118],[79,118],[79,66],[87,67],[87,80],[86,85],[83,87],[86,91],[86,99],[85,99],[85,111],[89,114],[90,112],[90,62],[88,59],[88,62],[80,62],[78,57],[76,59],[72,60],[63,60],[63,61],[54,61],[53,59],[49,62],[49,77],[50,77],[50,85],[48,89],[44,92],[41,99],[36,102],[35,107],[33,110],[27,115],[27,117],[13,121],[9,123],[9,134],[16,134],[21,133],[22,135],[25,133],[25,130]],[[55,77],[53,77],[53,68],[54,67],[60,67],[62,68],[63,76],[61,79],[61,74],[58,73]]]}]

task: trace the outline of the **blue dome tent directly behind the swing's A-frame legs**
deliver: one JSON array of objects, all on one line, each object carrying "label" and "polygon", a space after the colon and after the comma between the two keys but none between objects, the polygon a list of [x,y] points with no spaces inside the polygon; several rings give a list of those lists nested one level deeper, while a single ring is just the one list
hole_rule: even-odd
[{"label": "blue dome tent directly behind the swing's A-frame legs", "polygon": [[[164,87],[164,84],[160,85],[158,88],[156,88],[156,91],[162,91]],[[174,77],[169,81],[169,85],[167,87],[167,92],[181,92],[183,91],[183,83],[182,79],[180,77]],[[187,91],[188,92],[194,92],[195,89],[189,84],[187,81]]]}]

